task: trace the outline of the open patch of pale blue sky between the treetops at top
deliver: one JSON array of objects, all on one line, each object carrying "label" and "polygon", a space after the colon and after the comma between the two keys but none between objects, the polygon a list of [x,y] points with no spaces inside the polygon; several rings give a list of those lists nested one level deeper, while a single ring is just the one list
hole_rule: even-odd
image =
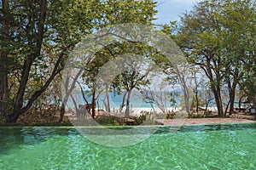
[{"label": "open patch of pale blue sky between the treetops at top", "polygon": [[156,24],[168,24],[170,20],[179,20],[179,15],[189,12],[198,0],[155,0],[158,2]]}]

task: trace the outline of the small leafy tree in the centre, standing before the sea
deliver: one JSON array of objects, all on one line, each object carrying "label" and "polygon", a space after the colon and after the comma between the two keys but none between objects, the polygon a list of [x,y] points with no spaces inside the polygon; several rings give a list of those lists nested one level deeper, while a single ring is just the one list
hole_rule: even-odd
[{"label": "small leafy tree in the centre, standing before the sea", "polygon": [[[114,93],[123,94],[123,102],[120,105],[119,112],[122,112],[126,106],[126,116],[129,116],[131,112],[132,91],[147,84],[148,74],[154,70],[153,61],[148,56],[151,53],[148,50],[150,50],[149,47],[138,42],[111,44],[96,53],[93,70],[89,70],[87,73],[90,74],[91,71],[96,73],[95,75],[90,74],[92,76],[90,77],[90,83],[96,82],[98,93],[108,88],[109,92],[113,89]],[[86,77],[87,80],[88,78]],[[99,83],[101,80],[102,84]]]}]

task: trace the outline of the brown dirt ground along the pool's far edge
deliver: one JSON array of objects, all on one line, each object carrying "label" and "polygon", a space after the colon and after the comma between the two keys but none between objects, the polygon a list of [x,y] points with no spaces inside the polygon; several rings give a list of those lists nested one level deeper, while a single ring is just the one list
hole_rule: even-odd
[{"label": "brown dirt ground along the pool's far edge", "polygon": [[[106,118],[108,113],[105,111],[96,111],[96,117]],[[212,112],[209,118],[196,116],[185,120],[177,119],[156,119],[156,124],[212,124],[212,123],[231,123],[231,122],[254,122],[255,116],[247,113],[236,112],[227,118],[218,118],[217,112]],[[60,111],[31,111],[19,117],[19,125],[72,125],[69,119],[76,119],[76,115],[65,115],[63,122],[59,123]]]}]

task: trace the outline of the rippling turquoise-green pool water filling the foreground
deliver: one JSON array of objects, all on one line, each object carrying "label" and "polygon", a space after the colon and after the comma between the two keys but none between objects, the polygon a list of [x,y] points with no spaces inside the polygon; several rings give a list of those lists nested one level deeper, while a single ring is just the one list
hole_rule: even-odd
[{"label": "rippling turquoise-green pool water filling the foreground", "polygon": [[0,127],[0,169],[256,169],[256,123],[160,127],[116,148],[73,127]]}]

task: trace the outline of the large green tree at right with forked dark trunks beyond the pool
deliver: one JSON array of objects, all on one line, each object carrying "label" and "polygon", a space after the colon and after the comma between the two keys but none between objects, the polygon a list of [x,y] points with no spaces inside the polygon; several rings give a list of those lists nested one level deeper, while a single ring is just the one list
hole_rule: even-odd
[{"label": "large green tree at right with forked dark trunks beyond the pool", "polygon": [[225,80],[229,86],[231,113],[236,85],[243,75],[241,56],[247,58],[247,50],[252,48],[252,44],[247,46],[244,37],[253,33],[248,31],[253,27],[253,1],[202,1],[181,20],[177,43],[190,62],[205,71],[218,107],[218,116],[225,116],[221,89]]}]

